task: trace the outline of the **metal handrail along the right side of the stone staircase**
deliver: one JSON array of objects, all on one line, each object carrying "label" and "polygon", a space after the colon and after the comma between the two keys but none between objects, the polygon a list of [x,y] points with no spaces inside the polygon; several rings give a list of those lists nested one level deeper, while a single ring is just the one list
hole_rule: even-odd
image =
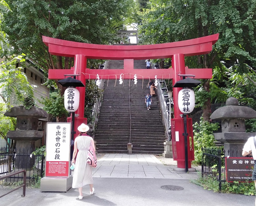
[{"label": "metal handrail along the right side of the stone staircase", "polygon": [[171,140],[171,123],[170,123],[170,110],[171,110],[171,104],[173,104],[172,99],[169,102],[169,109],[168,109],[168,103],[166,103],[166,99],[168,98],[168,96],[164,95],[164,91],[166,90],[166,92],[168,92],[166,83],[164,80],[158,80],[159,84],[157,85],[158,87],[158,91],[161,92],[157,92],[158,93],[158,99],[160,102],[160,108],[162,111],[162,118],[163,118],[163,122],[164,122],[164,127],[166,129],[166,134],[167,134],[167,141]]}]

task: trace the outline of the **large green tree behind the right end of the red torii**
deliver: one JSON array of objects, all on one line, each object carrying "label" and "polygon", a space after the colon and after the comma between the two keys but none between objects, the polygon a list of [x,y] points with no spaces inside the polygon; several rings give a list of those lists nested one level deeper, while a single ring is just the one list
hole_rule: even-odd
[{"label": "large green tree behind the right end of the red torii", "polygon": [[[237,73],[249,74],[256,66],[255,0],[150,0],[150,9],[141,13],[146,44],[181,41],[219,33],[219,40],[208,55],[186,58],[190,68],[222,70],[232,66]],[[250,76],[250,75],[249,75]],[[208,121],[211,108],[210,80],[202,80],[203,117]]]}]

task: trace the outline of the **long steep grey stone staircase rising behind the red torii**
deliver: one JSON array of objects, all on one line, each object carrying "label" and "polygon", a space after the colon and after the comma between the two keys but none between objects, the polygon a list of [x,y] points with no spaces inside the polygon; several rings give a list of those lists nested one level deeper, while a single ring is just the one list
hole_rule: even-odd
[{"label": "long steep grey stone staircase rising behind the red torii", "polygon": [[[144,60],[134,61],[135,65],[146,67]],[[123,61],[110,61],[109,68],[122,67]],[[117,82],[106,80],[95,133],[98,153],[127,153],[127,143],[132,143],[133,154],[163,153],[165,135],[157,96],[153,96],[151,109],[147,110],[147,84],[144,80],[142,88],[142,80],[136,85],[132,79],[119,84],[119,76]]]}]

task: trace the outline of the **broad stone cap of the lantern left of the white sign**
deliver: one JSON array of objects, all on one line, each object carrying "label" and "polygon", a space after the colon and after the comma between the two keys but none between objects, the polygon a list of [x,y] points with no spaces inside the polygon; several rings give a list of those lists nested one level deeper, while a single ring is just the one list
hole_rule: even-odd
[{"label": "broad stone cap of the lantern left of the white sign", "polygon": [[24,106],[14,106],[11,111],[5,112],[7,117],[34,117],[38,119],[45,119],[48,114],[43,109],[32,106],[30,109],[25,109]]}]

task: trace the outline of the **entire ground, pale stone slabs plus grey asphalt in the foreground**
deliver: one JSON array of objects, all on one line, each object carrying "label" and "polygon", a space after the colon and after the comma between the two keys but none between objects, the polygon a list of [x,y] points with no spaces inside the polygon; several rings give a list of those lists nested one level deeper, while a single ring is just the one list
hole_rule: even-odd
[{"label": "entire ground, pale stone slabs plus grey asphalt in the foreground", "polygon": [[[83,187],[67,192],[40,192],[22,189],[0,198],[3,206],[250,206],[255,196],[219,194],[190,183],[198,173],[179,173],[165,166],[154,155],[105,154],[93,169],[94,195]],[[200,168],[198,168],[200,169]],[[169,190],[168,190],[169,189]],[[11,189],[0,188],[0,195]]]}]

